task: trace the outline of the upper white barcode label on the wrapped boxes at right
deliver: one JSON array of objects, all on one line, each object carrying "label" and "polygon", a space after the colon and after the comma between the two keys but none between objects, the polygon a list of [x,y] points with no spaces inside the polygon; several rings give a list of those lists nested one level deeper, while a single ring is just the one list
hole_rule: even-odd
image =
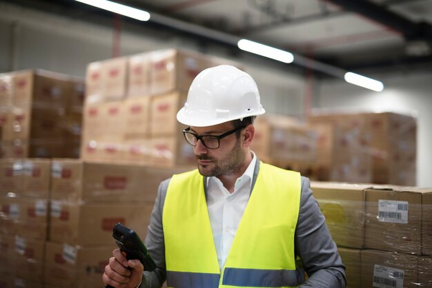
[{"label": "upper white barcode label on the wrapped boxes at right", "polygon": [[378,220],[391,223],[408,223],[408,201],[379,200]]}]

